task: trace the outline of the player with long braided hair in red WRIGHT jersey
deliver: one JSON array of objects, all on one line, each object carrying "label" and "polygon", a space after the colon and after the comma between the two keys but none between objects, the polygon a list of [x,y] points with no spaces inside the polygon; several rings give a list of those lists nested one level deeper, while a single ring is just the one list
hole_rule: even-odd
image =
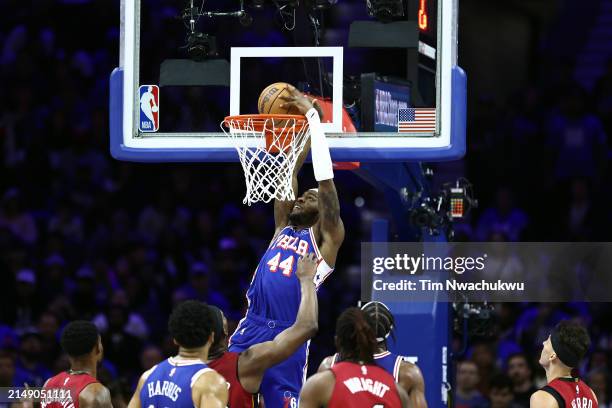
[{"label": "player with long braided hair in red WRIGHT jersey", "polygon": [[310,377],[300,394],[300,408],[406,407],[406,391],[374,362],[373,324],[362,310],[345,310],[336,322],[340,362]]}]

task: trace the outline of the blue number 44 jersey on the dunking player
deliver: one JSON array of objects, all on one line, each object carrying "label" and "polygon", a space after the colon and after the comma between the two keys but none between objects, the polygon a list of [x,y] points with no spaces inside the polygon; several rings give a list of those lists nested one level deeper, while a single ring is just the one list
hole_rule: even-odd
[{"label": "blue number 44 jersey on the dunking player", "polygon": [[300,306],[300,282],[295,275],[300,257],[314,253],[319,260],[314,278],[317,288],[333,271],[323,260],[312,228],[283,228],[261,257],[247,291],[250,314],[293,323]]}]

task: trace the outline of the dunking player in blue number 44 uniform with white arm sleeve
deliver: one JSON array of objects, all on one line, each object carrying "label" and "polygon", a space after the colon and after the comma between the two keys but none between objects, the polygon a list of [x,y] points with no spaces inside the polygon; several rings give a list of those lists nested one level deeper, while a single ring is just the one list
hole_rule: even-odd
[{"label": "dunking player in blue number 44 uniform with white arm sleeve", "polygon": [[[295,276],[297,258],[309,253],[316,255],[319,263],[314,283],[318,287],[333,271],[344,240],[332,161],[319,114],[312,102],[294,87],[289,87],[289,94],[282,97],[284,106],[298,108],[308,119],[312,165],[319,188],[306,191],[296,201],[275,201],[274,238],[247,291],[246,316],[230,338],[232,352],[270,341],[291,326],[300,304],[300,284]],[[295,192],[306,150],[294,170]],[[267,408],[295,406],[304,381],[307,352],[308,344],[304,344],[287,360],[267,370],[260,387]]]}]

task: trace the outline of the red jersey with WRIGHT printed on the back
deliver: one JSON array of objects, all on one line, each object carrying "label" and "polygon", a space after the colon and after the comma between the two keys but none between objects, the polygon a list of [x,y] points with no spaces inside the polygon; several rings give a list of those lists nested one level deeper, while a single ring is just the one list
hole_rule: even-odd
[{"label": "red jersey with WRIGHT printed on the back", "polygon": [[344,361],[334,364],[330,370],[336,377],[336,384],[328,408],[402,407],[393,376],[377,365]]}]

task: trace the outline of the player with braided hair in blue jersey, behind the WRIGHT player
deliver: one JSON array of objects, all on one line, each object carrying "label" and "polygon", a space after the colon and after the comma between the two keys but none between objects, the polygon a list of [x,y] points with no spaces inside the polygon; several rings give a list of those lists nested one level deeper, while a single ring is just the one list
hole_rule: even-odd
[{"label": "player with braided hair in blue jersey, behind the WRIGHT player", "polygon": [[[399,383],[408,393],[411,407],[427,408],[425,381],[419,367],[406,361],[404,357],[387,350],[387,338],[395,326],[395,318],[389,308],[384,303],[373,301],[363,305],[361,310],[369,317],[368,321],[374,325],[372,329],[378,343],[376,354],[374,354],[376,365],[391,374],[395,382]],[[326,357],[321,362],[318,372],[323,372],[340,361],[339,353]]]}]

